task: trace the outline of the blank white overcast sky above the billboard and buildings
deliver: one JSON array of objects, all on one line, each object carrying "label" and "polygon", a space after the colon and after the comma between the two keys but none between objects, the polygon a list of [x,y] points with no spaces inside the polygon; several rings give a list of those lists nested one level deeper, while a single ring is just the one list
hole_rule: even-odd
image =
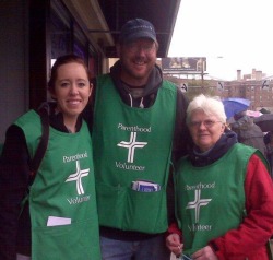
[{"label": "blank white overcast sky above the billboard and buildings", "polygon": [[273,0],[181,0],[168,57],[206,57],[222,80],[273,75]]}]

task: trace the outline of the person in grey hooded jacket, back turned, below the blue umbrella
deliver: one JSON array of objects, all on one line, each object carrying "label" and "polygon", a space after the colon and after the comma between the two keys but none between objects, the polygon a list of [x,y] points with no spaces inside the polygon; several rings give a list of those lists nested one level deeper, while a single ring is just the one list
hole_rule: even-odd
[{"label": "person in grey hooded jacket, back turned, below the blue umbrella", "polygon": [[240,111],[234,116],[235,122],[230,128],[237,133],[238,142],[259,149],[265,155],[266,147],[263,141],[262,130],[253,122],[253,119],[247,116],[247,111]]}]

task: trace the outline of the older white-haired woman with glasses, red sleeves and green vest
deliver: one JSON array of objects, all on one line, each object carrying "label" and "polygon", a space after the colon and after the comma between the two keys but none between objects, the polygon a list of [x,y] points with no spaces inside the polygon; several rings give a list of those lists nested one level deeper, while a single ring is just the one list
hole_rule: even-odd
[{"label": "older white-haired woman with glasses, red sleeves and green vest", "polygon": [[183,259],[270,259],[273,182],[263,155],[237,142],[217,97],[193,98],[187,123],[194,146],[176,168],[167,247]]}]

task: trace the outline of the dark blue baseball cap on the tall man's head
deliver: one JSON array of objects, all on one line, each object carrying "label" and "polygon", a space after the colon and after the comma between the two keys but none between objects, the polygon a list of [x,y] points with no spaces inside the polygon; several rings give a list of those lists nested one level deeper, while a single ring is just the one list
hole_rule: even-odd
[{"label": "dark blue baseball cap on the tall man's head", "polygon": [[120,31],[119,42],[130,43],[139,38],[150,38],[156,42],[154,25],[143,19],[128,21]]}]

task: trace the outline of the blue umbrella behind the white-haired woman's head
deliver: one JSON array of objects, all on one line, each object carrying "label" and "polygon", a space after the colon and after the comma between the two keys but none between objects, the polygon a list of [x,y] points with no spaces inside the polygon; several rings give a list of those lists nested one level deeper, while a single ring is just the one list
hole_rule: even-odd
[{"label": "blue umbrella behind the white-haired woman's head", "polygon": [[233,117],[235,114],[245,111],[250,105],[250,101],[240,97],[229,97],[222,101],[225,107],[227,119]]}]

